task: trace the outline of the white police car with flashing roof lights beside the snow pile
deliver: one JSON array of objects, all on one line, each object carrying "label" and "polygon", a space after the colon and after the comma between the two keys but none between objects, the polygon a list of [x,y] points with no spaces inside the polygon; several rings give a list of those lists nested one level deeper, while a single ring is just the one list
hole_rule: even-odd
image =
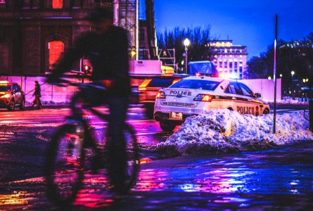
[{"label": "white police car with flashing roof lights beside the snow pile", "polygon": [[172,131],[190,115],[212,108],[228,108],[241,114],[269,113],[269,105],[249,87],[232,79],[191,76],[160,89],[156,96],[154,118],[165,131]]}]

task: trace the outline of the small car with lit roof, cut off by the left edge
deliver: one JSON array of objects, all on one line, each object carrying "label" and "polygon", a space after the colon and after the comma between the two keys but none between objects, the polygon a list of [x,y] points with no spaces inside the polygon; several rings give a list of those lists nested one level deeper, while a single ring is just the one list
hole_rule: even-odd
[{"label": "small car with lit roof, cut off by the left edge", "polygon": [[19,106],[20,110],[25,109],[25,94],[17,83],[0,81],[0,108],[15,110]]}]

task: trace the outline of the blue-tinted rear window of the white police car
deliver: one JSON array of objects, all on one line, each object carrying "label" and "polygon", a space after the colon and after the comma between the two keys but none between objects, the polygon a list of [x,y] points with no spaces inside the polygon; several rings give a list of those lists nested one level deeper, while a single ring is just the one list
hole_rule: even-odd
[{"label": "blue-tinted rear window of the white police car", "polygon": [[170,88],[214,90],[217,88],[219,83],[220,82],[213,82],[213,81],[207,81],[207,80],[183,79],[183,80],[173,84]]}]

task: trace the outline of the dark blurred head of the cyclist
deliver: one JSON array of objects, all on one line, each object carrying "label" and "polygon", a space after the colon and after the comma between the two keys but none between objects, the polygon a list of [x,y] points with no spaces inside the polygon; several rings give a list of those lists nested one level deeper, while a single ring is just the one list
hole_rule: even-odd
[{"label": "dark blurred head of the cyclist", "polygon": [[106,32],[113,25],[113,11],[106,8],[94,8],[86,19],[93,25],[96,32]]}]

